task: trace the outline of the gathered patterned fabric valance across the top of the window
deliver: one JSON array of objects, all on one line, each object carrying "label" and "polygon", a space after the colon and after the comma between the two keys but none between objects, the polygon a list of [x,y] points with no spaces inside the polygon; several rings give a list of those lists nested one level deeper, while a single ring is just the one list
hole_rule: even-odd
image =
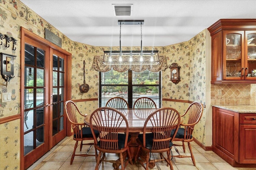
[{"label": "gathered patterned fabric valance across the top of the window", "polygon": [[165,70],[168,68],[167,61],[165,56],[159,56],[159,64],[156,65],[130,65],[130,64],[123,64],[123,65],[109,65],[104,64],[103,61],[103,55],[96,55],[94,56],[94,60],[92,63],[92,68],[96,71],[100,72],[106,72],[113,68],[113,70],[116,70],[118,72],[124,72],[127,70],[132,70],[135,72],[142,72],[144,70],[150,70],[151,72],[159,72],[160,70]]}]

